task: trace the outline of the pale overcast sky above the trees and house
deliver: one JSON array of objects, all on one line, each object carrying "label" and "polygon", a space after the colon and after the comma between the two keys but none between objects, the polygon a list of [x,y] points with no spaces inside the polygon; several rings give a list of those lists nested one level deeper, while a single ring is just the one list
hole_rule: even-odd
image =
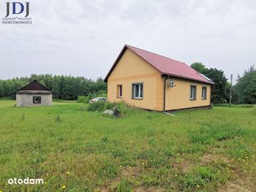
[{"label": "pale overcast sky above the trees and house", "polygon": [[0,79],[105,77],[125,44],[235,79],[256,64],[254,0],[25,2],[33,24],[2,24],[7,11],[0,0]]}]

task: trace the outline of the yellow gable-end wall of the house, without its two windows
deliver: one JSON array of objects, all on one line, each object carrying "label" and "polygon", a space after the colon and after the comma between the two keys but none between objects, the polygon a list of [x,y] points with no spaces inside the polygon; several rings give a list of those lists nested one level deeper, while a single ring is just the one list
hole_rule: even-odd
[{"label": "yellow gable-end wall of the house, without its two windows", "polygon": [[[143,99],[131,98],[133,83],[143,83]],[[134,107],[161,111],[163,108],[161,83],[161,73],[132,50],[127,49],[108,77],[108,101],[123,101]],[[117,85],[122,85],[122,98],[117,98]]]}]

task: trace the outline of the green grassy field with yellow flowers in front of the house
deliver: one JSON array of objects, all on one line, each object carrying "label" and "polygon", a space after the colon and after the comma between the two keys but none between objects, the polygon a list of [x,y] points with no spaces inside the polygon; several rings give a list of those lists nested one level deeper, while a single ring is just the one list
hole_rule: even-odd
[{"label": "green grassy field with yellow flowers in front of the house", "polygon": [[[256,107],[175,116],[0,101],[0,191],[256,191]],[[10,178],[43,185],[8,185]]]}]

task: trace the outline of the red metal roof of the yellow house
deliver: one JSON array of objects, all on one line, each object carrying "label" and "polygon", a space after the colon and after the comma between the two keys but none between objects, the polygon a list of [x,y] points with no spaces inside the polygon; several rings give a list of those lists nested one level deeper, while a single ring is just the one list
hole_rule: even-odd
[{"label": "red metal roof of the yellow house", "polygon": [[124,46],[121,50],[120,55],[117,57],[117,60],[113,64],[113,67],[108,72],[108,75],[105,78],[105,81],[108,81],[108,76],[110,76],[113,69],[116,67],[117,63],[121,59],[121,56],[126,52],[126,49],[130,49],[135,52],[135,54],[139,55],[142,59],[147,61],[152,67],[156,68],[163,75],[176,76],[183,79],[189,79],[194,81],[201,81],[208,84],[214,84],[210,79],[205,78],[201,75],[201,73],[196,72],[193,68],[190,68],[187,64],[179,62],[174,59],[167,58],[162,55],[157,55],[148,50],[142,50],[135,46]]}]

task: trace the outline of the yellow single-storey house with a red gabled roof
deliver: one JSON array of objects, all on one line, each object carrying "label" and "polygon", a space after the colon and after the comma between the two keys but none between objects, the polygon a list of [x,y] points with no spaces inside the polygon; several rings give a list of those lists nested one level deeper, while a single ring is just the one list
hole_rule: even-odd
[{"label": "yellow single-storey house with a red gabled roof", "polygon": [[210,108],[214,84],[185,63],[127,45],[105,81],[108,101],[154,111]]}]

